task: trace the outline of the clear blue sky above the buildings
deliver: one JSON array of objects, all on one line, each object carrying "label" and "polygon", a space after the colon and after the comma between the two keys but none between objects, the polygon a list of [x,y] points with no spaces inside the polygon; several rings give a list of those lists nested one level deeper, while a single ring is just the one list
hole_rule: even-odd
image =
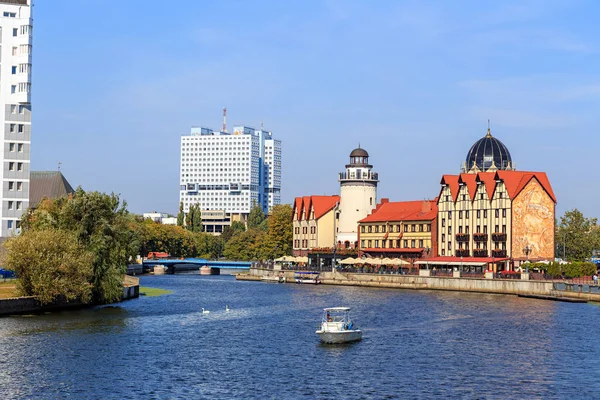
[{"label": "clear blue sky above the buildings", "polygon": [[[161,6],[162,5],[162,6]],[[492,134],[600,217],[600,3],[38,0],[32,169],[175,213],[192,125],[283,141],[282,201],[336,194],[360,142],[379,197],[434,198]]]}]

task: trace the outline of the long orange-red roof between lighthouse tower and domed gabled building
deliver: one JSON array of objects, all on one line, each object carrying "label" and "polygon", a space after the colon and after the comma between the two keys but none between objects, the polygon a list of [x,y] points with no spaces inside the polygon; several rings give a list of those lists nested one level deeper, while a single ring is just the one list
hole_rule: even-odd
[{"label": "long orange-red roof between lighthouse tower and domed gabled building", "polygon": [[358,222],[431,221],[437,217],[436,200],[396,201],[378,204]]}]

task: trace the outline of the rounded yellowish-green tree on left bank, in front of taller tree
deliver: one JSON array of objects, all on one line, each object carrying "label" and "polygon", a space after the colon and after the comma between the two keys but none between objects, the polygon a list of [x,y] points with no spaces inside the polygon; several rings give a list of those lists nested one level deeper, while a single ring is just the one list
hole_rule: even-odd
[{"label": "rounded yellowish-green tree on left bank, in front of taller tree", "polygon": [[94,255],[73,232],[57,229],[25,231],[8,239],[3,264],[16,272],[17,290],[42,304],[56,299],[87,303],[92,298]]}]

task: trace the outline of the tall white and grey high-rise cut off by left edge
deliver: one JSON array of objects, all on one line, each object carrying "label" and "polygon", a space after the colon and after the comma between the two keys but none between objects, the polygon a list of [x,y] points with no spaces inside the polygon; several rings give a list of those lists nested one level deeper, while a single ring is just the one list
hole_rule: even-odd
[{"label": "tall white and grey high-rise cut off by left edge", "polygon": [[0,101],[4,108],[1,236],[20,232],[29,206],[32,0],[0,0]]}]

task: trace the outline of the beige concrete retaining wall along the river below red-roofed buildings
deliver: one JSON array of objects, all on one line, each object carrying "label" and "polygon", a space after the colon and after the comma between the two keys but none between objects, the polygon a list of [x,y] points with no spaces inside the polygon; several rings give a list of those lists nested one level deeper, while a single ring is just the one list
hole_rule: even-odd
[{"label": "beige concrete retaining wall along the river below red-roofed buildings", "polygon": [[[251,269],[248,274],[238,274],[239,280],[260,280],[263,276],[283,273],[286,282],[294,282],[294,271]],[[460,292],[497,294],[550,295],[552,282],[521,281],[515,279],[477,279],[451,277],[425,277],[412,275],[354,274],[323,272],[319,276],[326,285],[366,286],[396,289],[450,290]]]}]

